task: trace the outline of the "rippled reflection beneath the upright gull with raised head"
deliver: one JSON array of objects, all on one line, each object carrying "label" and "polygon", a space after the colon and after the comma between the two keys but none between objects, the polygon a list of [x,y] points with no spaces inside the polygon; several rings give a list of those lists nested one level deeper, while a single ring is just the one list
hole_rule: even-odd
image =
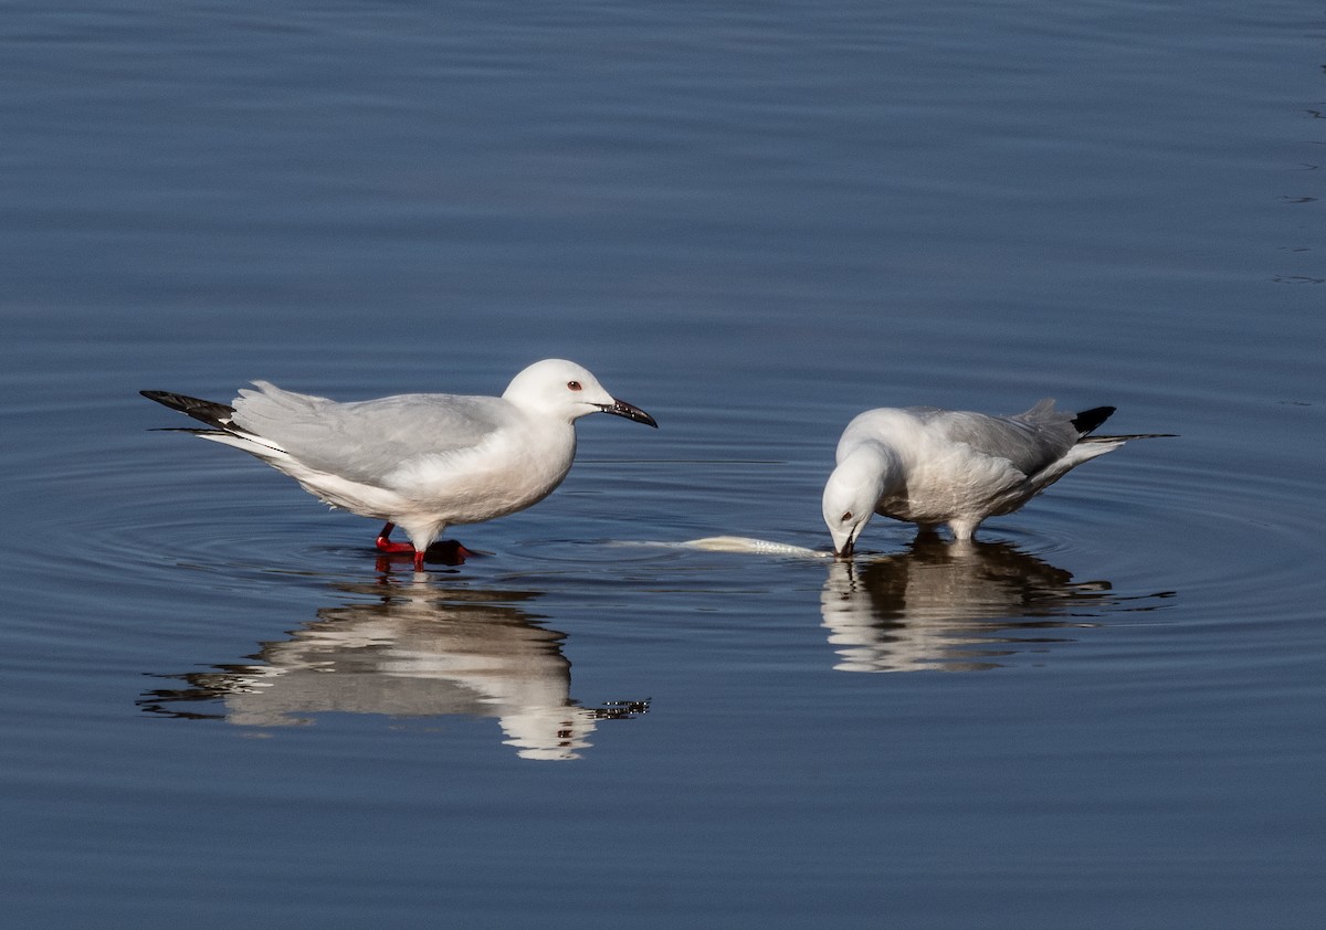
[{"label": "rippled reflection beneath the upright gull with raised head", "polygon": [[[163,676],[187,688],[149,692],[139,705],[255,727],[306,725],[329,711],[495,717],[504,743],[526,759],[579,758],[599,721],[648,710],[647,701],[583,707],[570,697],[565,635],[512,604],[534,592],[341,587],[373,600],[318,611],[289,639],[263,644],[253,664]],[[191,707],[208,701],[223,711]]]}]

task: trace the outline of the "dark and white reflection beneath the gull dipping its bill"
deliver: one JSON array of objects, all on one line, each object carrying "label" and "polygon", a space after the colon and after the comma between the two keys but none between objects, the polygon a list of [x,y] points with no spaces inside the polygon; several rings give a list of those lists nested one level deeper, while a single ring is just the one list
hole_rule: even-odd
[{"label": "dark and white reflection beneath the gull dipping its bill", "polygon": [[918,537],[906,552],[837,562],[821,615],[841,672],[981,672],[1093,629],[1106,611],[1154,609],[1171,592],[1123,597],[1074,582],[1001,542]]}]

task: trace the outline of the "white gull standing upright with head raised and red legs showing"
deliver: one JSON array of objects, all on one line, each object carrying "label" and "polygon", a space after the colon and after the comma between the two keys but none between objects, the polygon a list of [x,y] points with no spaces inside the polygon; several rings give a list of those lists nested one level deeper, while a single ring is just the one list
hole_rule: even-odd
[{"label": "white gull standing upright with head raised and red legs showing", "polygon": [[[415,571],[447,526],[505,517],[552,494],[575,457],[579,417],[603,412],[658,427],[562,359],[529,366],[501,397],[404,393],[342,404],[253,384],[232,405],[141,393],[211,427],[182,432],[243,449],[333,507],[387,521],[378,548],[414,552]],[[408,543],[391,542],[396,525]]]}]

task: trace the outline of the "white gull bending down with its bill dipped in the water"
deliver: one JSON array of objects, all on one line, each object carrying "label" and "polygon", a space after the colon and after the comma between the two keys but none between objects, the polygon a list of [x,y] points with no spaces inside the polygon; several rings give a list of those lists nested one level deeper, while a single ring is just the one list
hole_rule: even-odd
[{"label": "white gull bending down with its bill dipped in the water", "polygon": [[825,485],[834,552],[851,555],[874,514],[923,533],[947,523],[955,539],[971,539],[983,519],[1013,513],[1082,462],[1130,439],[1170,436],[1087,436],[1111,413],[1113,407],[1062,413],[1050,399],[1017,416],[866,411],[838,440],[838,466]]}]

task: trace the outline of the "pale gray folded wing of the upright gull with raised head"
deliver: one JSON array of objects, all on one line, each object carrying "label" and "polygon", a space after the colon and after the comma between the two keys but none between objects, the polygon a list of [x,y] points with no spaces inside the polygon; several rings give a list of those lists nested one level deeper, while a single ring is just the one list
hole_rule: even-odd
[{"label": "pale gray folded wing of the upright gull with raised head", "polygon": [[419,456],[465,452],[517,420],[500,397],[403,393],[349,404],[253,382],[235,399],[233,425],[308,468],[379,484]]}]

